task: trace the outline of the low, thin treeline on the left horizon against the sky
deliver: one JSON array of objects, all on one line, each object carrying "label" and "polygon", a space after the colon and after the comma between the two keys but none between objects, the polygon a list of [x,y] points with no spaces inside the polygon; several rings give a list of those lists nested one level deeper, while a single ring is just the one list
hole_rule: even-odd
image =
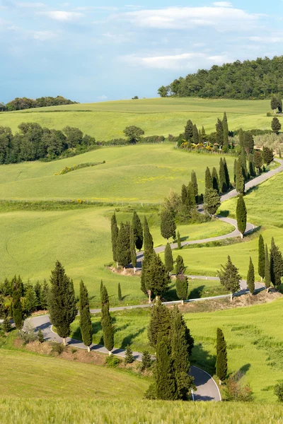
[{"label": "low, thin treeline on the left horizon against the sky", "polygon": [[13,110],[33,109],[34,107],[46,107],[46,106],[60,106],[60,105],[74,105],[77,102],[65,99],[62,95],[57,95],[56,98],[42,97],[38,99],[29,98],[16,98],[11,100],[6,105],[0,103],[1,112],[12,112]]}]

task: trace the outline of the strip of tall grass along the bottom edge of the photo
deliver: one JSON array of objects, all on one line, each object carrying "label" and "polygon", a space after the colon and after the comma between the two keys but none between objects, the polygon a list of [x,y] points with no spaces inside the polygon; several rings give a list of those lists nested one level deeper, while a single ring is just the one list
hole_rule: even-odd
[{"label": "strip of tall grass along the bottom edge of the photo", "polygon": [[58,399],[2,399],[1,419],[5,424],[30,424],[39,419],[46,424],[279,424],[283,407],[277,405],[162,402],[162,401],[74,401]]}]

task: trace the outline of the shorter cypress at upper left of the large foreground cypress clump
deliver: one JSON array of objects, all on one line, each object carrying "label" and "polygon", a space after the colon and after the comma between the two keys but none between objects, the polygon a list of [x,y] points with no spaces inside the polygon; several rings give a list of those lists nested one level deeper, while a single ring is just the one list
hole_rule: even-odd
[{"label": "shorter cypress at upper left of the large foreground cypress clump", "polygon": [[151,319],[147,328],[149,345],[156,348],[158,338],[168,336],[170,333],[170,313],[165,305],[162,305],[160,298],[154,300],[151,308]]}]

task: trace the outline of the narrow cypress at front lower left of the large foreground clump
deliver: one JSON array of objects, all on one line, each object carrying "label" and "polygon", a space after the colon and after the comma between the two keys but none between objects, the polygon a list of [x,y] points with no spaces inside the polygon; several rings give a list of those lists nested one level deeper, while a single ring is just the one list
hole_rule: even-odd
[{"label": "narrow cypress at front lower left of the large foreground clump", "polygon": [[168,337],[159,338],[156,346],[156,398],[163,401],[177,399],[177,384],[173,358],[171,356],[171,343]]}]

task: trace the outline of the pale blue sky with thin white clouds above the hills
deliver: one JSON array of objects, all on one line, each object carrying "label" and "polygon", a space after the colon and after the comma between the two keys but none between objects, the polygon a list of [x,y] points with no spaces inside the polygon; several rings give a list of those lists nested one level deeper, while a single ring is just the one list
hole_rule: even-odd
[{"label": "pale blue sky with thin white clouds above the hills", "polygon": [[282,28],[283,0],[0,0],[0,102],[157,97],[197,69],[279,56]]}]

